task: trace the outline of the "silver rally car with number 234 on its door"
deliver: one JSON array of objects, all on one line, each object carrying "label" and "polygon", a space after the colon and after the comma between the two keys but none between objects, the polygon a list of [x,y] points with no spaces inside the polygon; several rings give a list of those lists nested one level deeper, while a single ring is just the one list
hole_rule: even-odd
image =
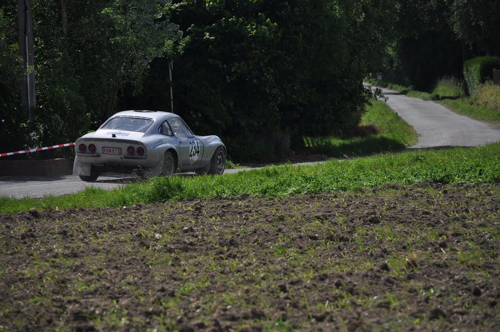
[{"label": "silver rally car with number 234 on its door", "polygon": [[107,119],[94,132],[76,139],[73,175],[94,181],[102,172],[144,177],[175,171],[222,174],[226,148],[218,136],[194,135],[177,114],[126,110]]}]

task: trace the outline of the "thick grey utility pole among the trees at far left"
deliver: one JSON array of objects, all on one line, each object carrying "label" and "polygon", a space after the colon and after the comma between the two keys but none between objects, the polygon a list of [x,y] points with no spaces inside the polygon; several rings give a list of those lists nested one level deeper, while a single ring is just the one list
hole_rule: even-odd
[{"label": "thick grey utility pole among the trees at far left", "polygon": [[18,40],[19,54],[22,56],[26,80],[21,84],[21,103],[29,109],[29,123],[35,119],[34,107],[36,96],[34,87],[34,56],[33,56],[33,17],[31,15],[31,0],[18,0],[19,17]]}]

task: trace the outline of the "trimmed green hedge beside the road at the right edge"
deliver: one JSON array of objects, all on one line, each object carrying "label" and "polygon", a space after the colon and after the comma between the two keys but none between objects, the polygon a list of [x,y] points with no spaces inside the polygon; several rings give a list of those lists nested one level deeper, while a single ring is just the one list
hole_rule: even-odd
[{"label": "trimmed green hedge beside the road at the right edge", "polygon": [[491,79],[493,68],[500,68],[500,57],[478,56],[465,61],[463,64],[463,76],[472,98],[477,99],[479,97],[479,87],[488,78]]}]

